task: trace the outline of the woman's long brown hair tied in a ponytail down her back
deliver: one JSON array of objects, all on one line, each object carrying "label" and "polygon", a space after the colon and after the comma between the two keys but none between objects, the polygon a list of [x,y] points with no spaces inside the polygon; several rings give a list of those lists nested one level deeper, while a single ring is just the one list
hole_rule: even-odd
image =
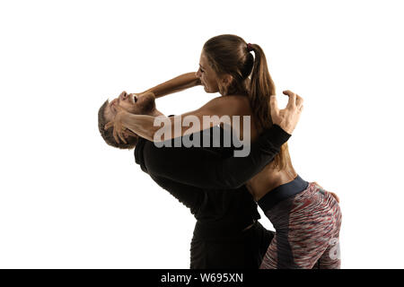
[{"label": "woman's long brown hair tied in a ponytail down her back", "polygon": [[[208,39],[203,47],[205,56],[218,75],[230,74],[232,83],[219,86],[223,95],[242,93],[249,97],[259,130],[272,126],[269,97],[275,95],[275,84],[268,71],[267,57],[257,44],[249,44],[239,36],[224,34]],[[255,58],[251,51],[254,52]],[[287,143],[283,144],[273,166],[284,170],[290,163]]]}]

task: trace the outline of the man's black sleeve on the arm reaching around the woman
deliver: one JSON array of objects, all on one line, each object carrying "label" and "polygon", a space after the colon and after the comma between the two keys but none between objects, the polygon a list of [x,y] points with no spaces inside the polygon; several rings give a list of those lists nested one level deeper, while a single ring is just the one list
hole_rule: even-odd
[{"label": "man's black sleeve on the arm reaching around the woman", "polygon": [[148,142],[145,165],[149,174],[194,187],[238,188],[273,161],[289,137],[279,126],[271,126],[251,144],[248,156],[227,159],[203,148],[156,147]]}]

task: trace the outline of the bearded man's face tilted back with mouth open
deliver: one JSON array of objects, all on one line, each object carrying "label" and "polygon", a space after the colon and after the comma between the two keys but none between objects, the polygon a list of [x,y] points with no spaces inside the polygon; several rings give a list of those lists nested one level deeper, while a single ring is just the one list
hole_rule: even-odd
[{"label": "bearded man's face tilted back with mouth open", "polygon": [[155,109],[154,94],[145,93],[144,95],[136,95],[122,91],[118,98],[111,100],[105,109],[105,118],[111,121],[117,114],[119,109],[124,109],[131,114],[148,115]]}]

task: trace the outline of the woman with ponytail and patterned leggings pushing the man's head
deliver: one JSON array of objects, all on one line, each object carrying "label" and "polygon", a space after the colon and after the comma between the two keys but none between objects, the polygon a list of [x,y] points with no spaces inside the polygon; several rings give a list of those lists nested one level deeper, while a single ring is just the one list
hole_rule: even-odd
[{"label": "woman with ponytail and patterned leggings pushing the man's head", "polygon": [[[255,58],[251,52],[254,52]],[[269,97],[275,85],[268,72],[265,54],[259,45],[247,44],[235,35],[216,36],[206,41],[200,57],[198,77],[206,92],[219,91],[222,96],[184,116],[250,116],[251,140],[272,126]],[[250,77],[249,77],[250,75]],[[297,106],[302,103],[296,100]],[[301,101],[301,100],[300,100]],[[177,119],[171,120],[171,125]],[[231,123],[233,125],[233,122]],[[115,135],[124,140],[121,126],[149,140],[157,127],[154,117],[127,117],[120,112],[113,126]],[[110,127],[112,124],[107,125]],[[198,130],[200,126],[195,126]],[[187,131],[196,131],[187,129]],[[244,126],[237,132],[243,135]],[[183,128],[181,135],[185,133]],[[178,134],[173,135],[173,137]],[[118,136],[116,136],[119,141]],[[156,149],[158,150],[158,149]],[[158,152],[158,151],[156,151]],[[237,161],[237,158],[234,158]],[[209,171],[208,163],[201,165]],[[204,185],[198,178],[178,178],[189,185]],[[286,143],[281,152],[247,187],[276,229],[261,268],[339,268],[338,237],[341,213],[337,200],[314,182],[306,182],[295,172]]]}]

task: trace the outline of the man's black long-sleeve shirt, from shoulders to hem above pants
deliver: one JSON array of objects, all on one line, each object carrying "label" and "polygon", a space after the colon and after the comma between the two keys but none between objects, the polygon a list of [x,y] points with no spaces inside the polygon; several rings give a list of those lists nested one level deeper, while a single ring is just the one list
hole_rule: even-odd
[{"label": "man's black long-sleeve shirt, from shoulders to hem above pants", "polygon": [[[234,146],[223,147],[226,131],[218,126],[200,132],[201,145],[206,136],[212,140],[214,129],[220,129],[220,147],[212,147],[212,141],[211,147],[174,147],[172,139],[172,147],[159,148],[139,138],[135,158],[159,186],[189,207],[198,230],[215,234],[242,230],[260,218],[244,183],[274,159],[290,135],[274,125],[251,144],[247,157],[233,157]],[[194,236],[204,237],[206,232],[198,230]]]}]

